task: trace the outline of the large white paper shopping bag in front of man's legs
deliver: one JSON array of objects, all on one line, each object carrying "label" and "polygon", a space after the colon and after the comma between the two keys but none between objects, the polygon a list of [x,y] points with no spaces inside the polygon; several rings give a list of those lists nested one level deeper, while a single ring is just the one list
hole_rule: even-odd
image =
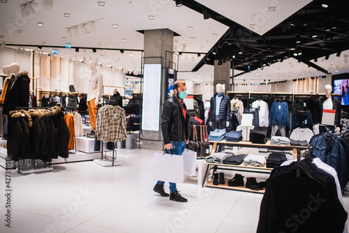
[{"label": "large white paper shopping bag in front of man's legs", "polygon": [[157,181],[168,181],[172,183],[184,182],[183,156],[170,153],[154,153],[153,169],[151,179]]}]

